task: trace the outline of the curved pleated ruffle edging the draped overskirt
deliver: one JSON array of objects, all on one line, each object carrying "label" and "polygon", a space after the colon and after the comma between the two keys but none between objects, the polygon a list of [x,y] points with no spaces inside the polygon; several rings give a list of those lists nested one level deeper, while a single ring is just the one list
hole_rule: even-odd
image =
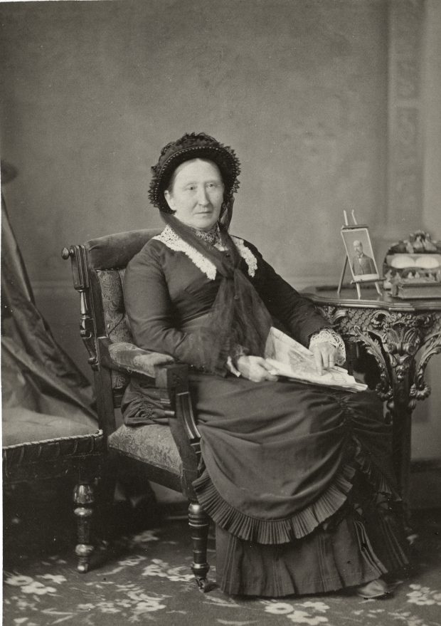
[{"label": "curved pleated ruffle edging the draped overskirt", "polygon": [[225,502],[206,470],[193,486],[199,504],[225,531],[245,541],[275,545],[307,536],[333,516],[346,501],[355,472],[351,465],[343,466],[334,483],[316,501],[284,519],[255,518],[238,511]]}]

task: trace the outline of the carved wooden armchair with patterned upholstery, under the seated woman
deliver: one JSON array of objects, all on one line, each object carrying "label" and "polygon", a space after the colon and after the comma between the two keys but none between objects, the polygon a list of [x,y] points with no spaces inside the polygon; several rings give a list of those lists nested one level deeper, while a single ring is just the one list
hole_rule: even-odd
[{"label": "carved wooden armchair with patterned upholstery, under the seated woman", "polygon": [[[150,229],[103,236],[71,245],[63,249],[62,256],[71,261],[73,284],[80,293],[80,335],[95,376],[98,419],[108,458],[136,466],[137,473],[146,480],[180,491],[188,498],[192,570],[198,588],[206,591],[209,519],[192,486],[198,476],[201,452],[188,392],[188,365],[134,346],[124,310],[122,278],[127,263],[158,233]],[[120,406],[129,376],[157,387],[169,427],[153,422],[117,427],[115,409]]]}]

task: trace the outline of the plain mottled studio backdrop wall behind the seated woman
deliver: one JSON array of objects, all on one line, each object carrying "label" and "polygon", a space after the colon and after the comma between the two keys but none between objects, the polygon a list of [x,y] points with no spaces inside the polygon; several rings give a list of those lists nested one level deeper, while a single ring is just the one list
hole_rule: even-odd
[{"label": "plain mottled studio backdrop wall behind the seated woman", "polygon": [[[7,207],[43,313],[85,367],[65,244],[159,226],[149,167],[203,130],[243,164],[232,230],[299,287],[336,283],[342,211],[388,241],[388,1],[2,3]],[[393,239],[422,226],[409,212]],[[441,236],[441,231],[438,233]]]}]

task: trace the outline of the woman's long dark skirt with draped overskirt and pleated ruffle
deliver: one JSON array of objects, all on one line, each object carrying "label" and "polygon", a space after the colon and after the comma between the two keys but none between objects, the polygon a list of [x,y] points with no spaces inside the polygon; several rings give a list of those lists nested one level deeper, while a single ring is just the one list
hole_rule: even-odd
[{"label": "woman's long dark skirt with draped overskirt and pleated ruffle", "polygon": [[[222,590],[323,593],[407,563],[375,393],[209,375],[193,375],[191,390],[204,464],[194,486],[216,522]],[[149,400],[132,387],[126,422]]]}]

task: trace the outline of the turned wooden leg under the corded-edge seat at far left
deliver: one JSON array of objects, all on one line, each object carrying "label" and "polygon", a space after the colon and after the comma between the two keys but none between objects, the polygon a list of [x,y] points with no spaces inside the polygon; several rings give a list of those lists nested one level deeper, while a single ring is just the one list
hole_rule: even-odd
[{"label": "turned wooden leg under the corded-edge seat at far left", "polygon": [[81,482],[73,490],[74,513],[78,518],[78,544],[75,554],[78,556],[77,569],[81,573],[89,570],[90,558],[95,546],[90,543],[90,525],[95,504],[95,493],[92,482]]}]

